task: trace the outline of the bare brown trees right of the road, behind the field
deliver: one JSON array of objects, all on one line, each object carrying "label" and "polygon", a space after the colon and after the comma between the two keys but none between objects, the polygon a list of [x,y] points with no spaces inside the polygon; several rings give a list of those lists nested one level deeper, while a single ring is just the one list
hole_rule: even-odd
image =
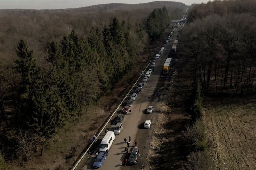
[{"label": "bare brown trees right of the road, behind the field", "polygon": [[255,10],[250,0],[214,1],[190,10],[182,49],[204,92],[243,94],[255,88]]}]

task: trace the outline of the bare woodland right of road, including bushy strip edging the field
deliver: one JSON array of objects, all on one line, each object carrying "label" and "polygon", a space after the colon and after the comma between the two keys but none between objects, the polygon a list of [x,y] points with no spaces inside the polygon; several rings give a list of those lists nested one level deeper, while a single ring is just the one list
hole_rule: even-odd
[{"label": "bare woodland right of road, including bushy strip edging the field", "polygon": [[218,166],[209,154],[211,144],[206,143],[203,96],[212,100],[225,96],[232,101],[237,95],[255,95],[255,11],[256,2],[252,0],[213,1],[189,9],[186,29],[179,40],[180,54],[194,70],[192,123],[181,137],[187,151],[183,169]]}]

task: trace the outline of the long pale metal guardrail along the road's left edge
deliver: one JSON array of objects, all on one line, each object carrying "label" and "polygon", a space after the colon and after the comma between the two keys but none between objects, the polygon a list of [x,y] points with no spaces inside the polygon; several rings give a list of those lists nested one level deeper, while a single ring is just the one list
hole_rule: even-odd
[{"label": "long pale metal guardrail along the road's left edge", "polygon": [[[147,67],[145,68],[145,70],[148,68],[149,64],[151,63],[151,61],[148,63]],[[145,70],[143,70],[143,72],[145,72]],[[120,102],[120,104],[118,105],[118,107],[116,107],[116,110],[112,113],[112,115],[108,118],[108,120],[105,122],[104,126],[100,129],[100,132],[97,134],[96,138],[93,140],[93,142],[91,143],[91,145],[88,147],[88,149],[84,152],[84,154],[81,156],[81,158],[76,162],[76,165],[72,168],[72,170],[76,169],[76,166],[78,166],[78,164],[84,159],[84,156],[86,155],[86,153],[90,150],[90,148],[92,147],[93,143],[98,139],[98,137],[100,136],[100,134],[102,133],[102,131],[106,128],[108,122],[111,120],[111,118],[113,117],[113,115],[115,115],[116,111],[119,109],[119,107],[121,106],[121,104],[124,102],[124,100],[127,98],[128,94],[132,91],[133,87],[137,84],[137,82],[139,81],[140,77],[142,76],[142,74],[140,74],[139,78],[136,80],[136,82],[132,85],[132,88],[130,89],[130,91],[126,94],[126,96],[124,97],[124,99]]]}]

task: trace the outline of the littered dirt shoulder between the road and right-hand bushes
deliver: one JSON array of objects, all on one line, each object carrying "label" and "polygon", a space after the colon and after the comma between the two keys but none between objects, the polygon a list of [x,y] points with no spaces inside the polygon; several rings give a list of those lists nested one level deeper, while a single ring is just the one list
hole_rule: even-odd
[{"label": "littered dirt shoulder between the road and right-hand bushes", "polygon": [[180,169],[186,160],[179,138],[190,121],[188,99],[192,91],[192,71],[184,70],[188,61],[172,57],[172,69],[166,80],[164,100],[158,111],[154,135],[144,169]]}]

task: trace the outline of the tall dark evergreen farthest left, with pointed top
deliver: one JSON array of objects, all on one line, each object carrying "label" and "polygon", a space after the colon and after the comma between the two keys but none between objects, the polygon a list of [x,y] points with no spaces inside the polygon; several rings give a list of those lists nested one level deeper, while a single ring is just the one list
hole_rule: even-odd
[{"label": "tall dark evergreen farthest left, with pointed top", "polygon": [[[16,51],[18,59],[15,71],[21,76],[19,89],[19,108],[21,121],[39,135],[50,137],[56,129],[56,115],[52,112],[52,96],[44,89],[44,83],[27,43],[19,42]],[[49,96],[49,97],[47,97]]]}]

